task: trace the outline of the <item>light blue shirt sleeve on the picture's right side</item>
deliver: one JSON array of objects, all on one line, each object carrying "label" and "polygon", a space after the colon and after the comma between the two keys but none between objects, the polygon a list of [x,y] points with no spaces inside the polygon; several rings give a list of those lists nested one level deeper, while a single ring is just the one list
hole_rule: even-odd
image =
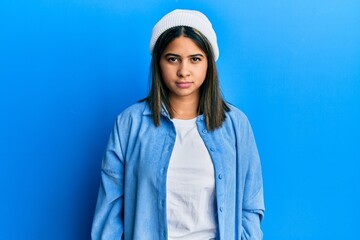
[{"label": "light blue shirt sleeve on the picture's right side", "polygon": [[240,158],[245,163],[245,182],[242,205],[242,240],[261,240],[260,223],[264,216],[264,194],[260,158],[254,134],[247,118],[243,125]]}]

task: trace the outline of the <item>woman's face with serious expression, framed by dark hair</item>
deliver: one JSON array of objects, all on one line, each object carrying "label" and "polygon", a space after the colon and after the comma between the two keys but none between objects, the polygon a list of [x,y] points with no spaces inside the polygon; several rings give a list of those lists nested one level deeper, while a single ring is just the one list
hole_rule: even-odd
[{"label": "woman's face with serious expression, framed by dark hair", "polygon": [[170,90],[170,99],[198,100],[207,67],[205,52],[193,40],[180,36],[171,41],[160,58],[161,75]]}]

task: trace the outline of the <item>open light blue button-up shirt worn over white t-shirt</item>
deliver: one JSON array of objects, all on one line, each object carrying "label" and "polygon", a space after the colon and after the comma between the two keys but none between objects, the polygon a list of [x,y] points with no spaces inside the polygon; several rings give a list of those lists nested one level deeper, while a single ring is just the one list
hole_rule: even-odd
[{"label": "open light blue button-up shirt worn over white t-shirt", "polygon": [[[197,128],[214,164],[217,239],[262,239],[264,213],[260,159],[246,116],[230,105],[223,125]],[[116,120],[102,162],[93,220],[93,240],[167,239],[166,173],[176,131],[163,112],[153,123],[146,102],[134,104]]]}]

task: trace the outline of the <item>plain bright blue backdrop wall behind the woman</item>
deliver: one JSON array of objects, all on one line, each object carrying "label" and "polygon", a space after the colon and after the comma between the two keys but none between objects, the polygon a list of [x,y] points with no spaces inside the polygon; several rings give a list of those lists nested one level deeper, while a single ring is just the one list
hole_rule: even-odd
[{"label": "plain bright blue backdrop wall behind the woman", "polygon": [[226,99],[262,159],[264,239],[356,239],[360,2],[0,3],[0,239],[89,239],[115,117],[148,91],[151,29],[174,8],[218,34]]}]

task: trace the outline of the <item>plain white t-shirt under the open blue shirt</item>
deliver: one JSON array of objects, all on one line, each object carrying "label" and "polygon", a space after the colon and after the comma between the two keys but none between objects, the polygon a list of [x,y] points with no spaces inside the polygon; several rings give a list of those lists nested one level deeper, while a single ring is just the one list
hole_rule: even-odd
[{"label": "plain white t-shirt under the open blue shirt", "polygon": [[215,239],[215,175],[196,118],[173,119],[176,141],[166,184],[169,240]]}]

